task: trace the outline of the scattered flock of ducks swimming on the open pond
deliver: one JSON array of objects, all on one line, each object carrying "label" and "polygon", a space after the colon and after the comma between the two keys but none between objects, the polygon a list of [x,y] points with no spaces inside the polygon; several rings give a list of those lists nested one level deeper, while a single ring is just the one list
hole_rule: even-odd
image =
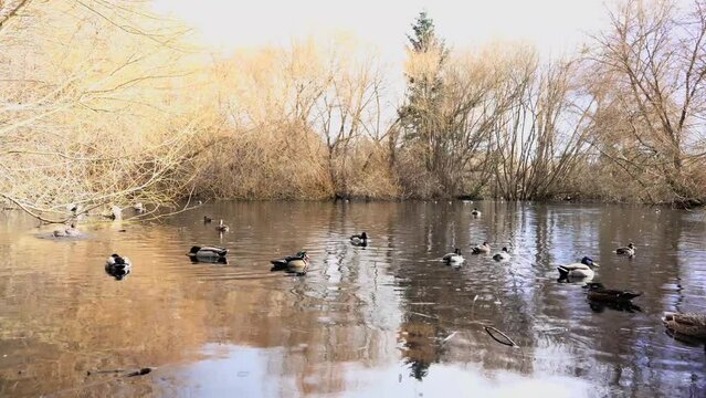
[{"label": "scattered flock of ducks swimming on the open pond", "polygon": [[[473,209],[472,214],[474,217],[481,217],[478,209]],[[212,219],[204,216],[203,223],[211,223]],[[215,227],[219,233],[230,230],[228,226],[223,223],[223,220],[219,221]],[[75,235],[77,230],[75,224],[71,224],[65,231],[66,235]],[[57,233],[57,232],[55,232]],[[61,233],[61,232],[59,232]],[[356,247],[367,247],[369,242],[368,234],[361,232],[349,238],[350,243]],[[471,249],[472,254],[489,254],[492,251],[488,242],[483,242]],[[625,247],[615,249],[615,254],[633,258],[635,255],[635,245],[630,242]],[[193,262],[210,262],[210,263],[226,263],[228,249],[219,247],[198,247],[194,245],[189,250],[187,255]],[[493,255],[493,260],[498,262],[506,262],[510,260],[509,250],[504,247],[499,252]],[[465,259],[461,252],[461,249],[456,248],[452,253],[447,253],[442,258],[442,261],[449,265],[461,266]],[[271,271],[285,271],[295,275],[306,275],[310,259],[306,251],[299,251],[294,255],[287,255],[281,259],[271,260]],[[593,269],[599,268],[600,264],[590,256],[583,256],[580,262],[570,263],[566,265],[557,266],[559,271],[560,280],[569,281],[584,281],[584,289],[588,290],[587,296],[592,302],[600,302],[607,304],[613,304],[618,306],[631,305],[631,301],[640,296],[641,292],[613,290],[607,289],[603,284],[598,282],[591,282],[596,272]],[[130,272],[131,262],[127,256],[120,256],[118,254],[112,254],[106,261],[106,271],[116,279],[123,279]],[[697,338],[706,338],[706,314],[700,313],[665,313],[662,318],[666,328],[675,335],[685,335]]]}]

